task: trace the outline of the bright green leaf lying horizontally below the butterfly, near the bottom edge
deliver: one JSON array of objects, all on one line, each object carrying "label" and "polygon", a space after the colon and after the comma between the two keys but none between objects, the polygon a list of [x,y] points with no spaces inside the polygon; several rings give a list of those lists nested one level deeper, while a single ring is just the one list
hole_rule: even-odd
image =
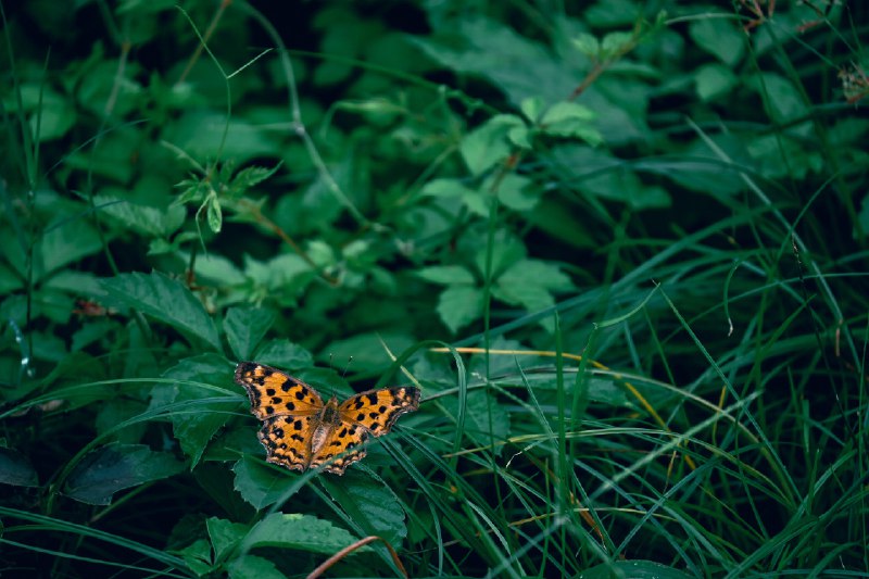
[{"label": "bright green leaf lying horizontally below the butterfly, near the bottom edge", "polygon": [[245,549],[276,546],[331,555],[356,538],[328,520],[311,515],[273,513],[254,525],[244,539]]}]

